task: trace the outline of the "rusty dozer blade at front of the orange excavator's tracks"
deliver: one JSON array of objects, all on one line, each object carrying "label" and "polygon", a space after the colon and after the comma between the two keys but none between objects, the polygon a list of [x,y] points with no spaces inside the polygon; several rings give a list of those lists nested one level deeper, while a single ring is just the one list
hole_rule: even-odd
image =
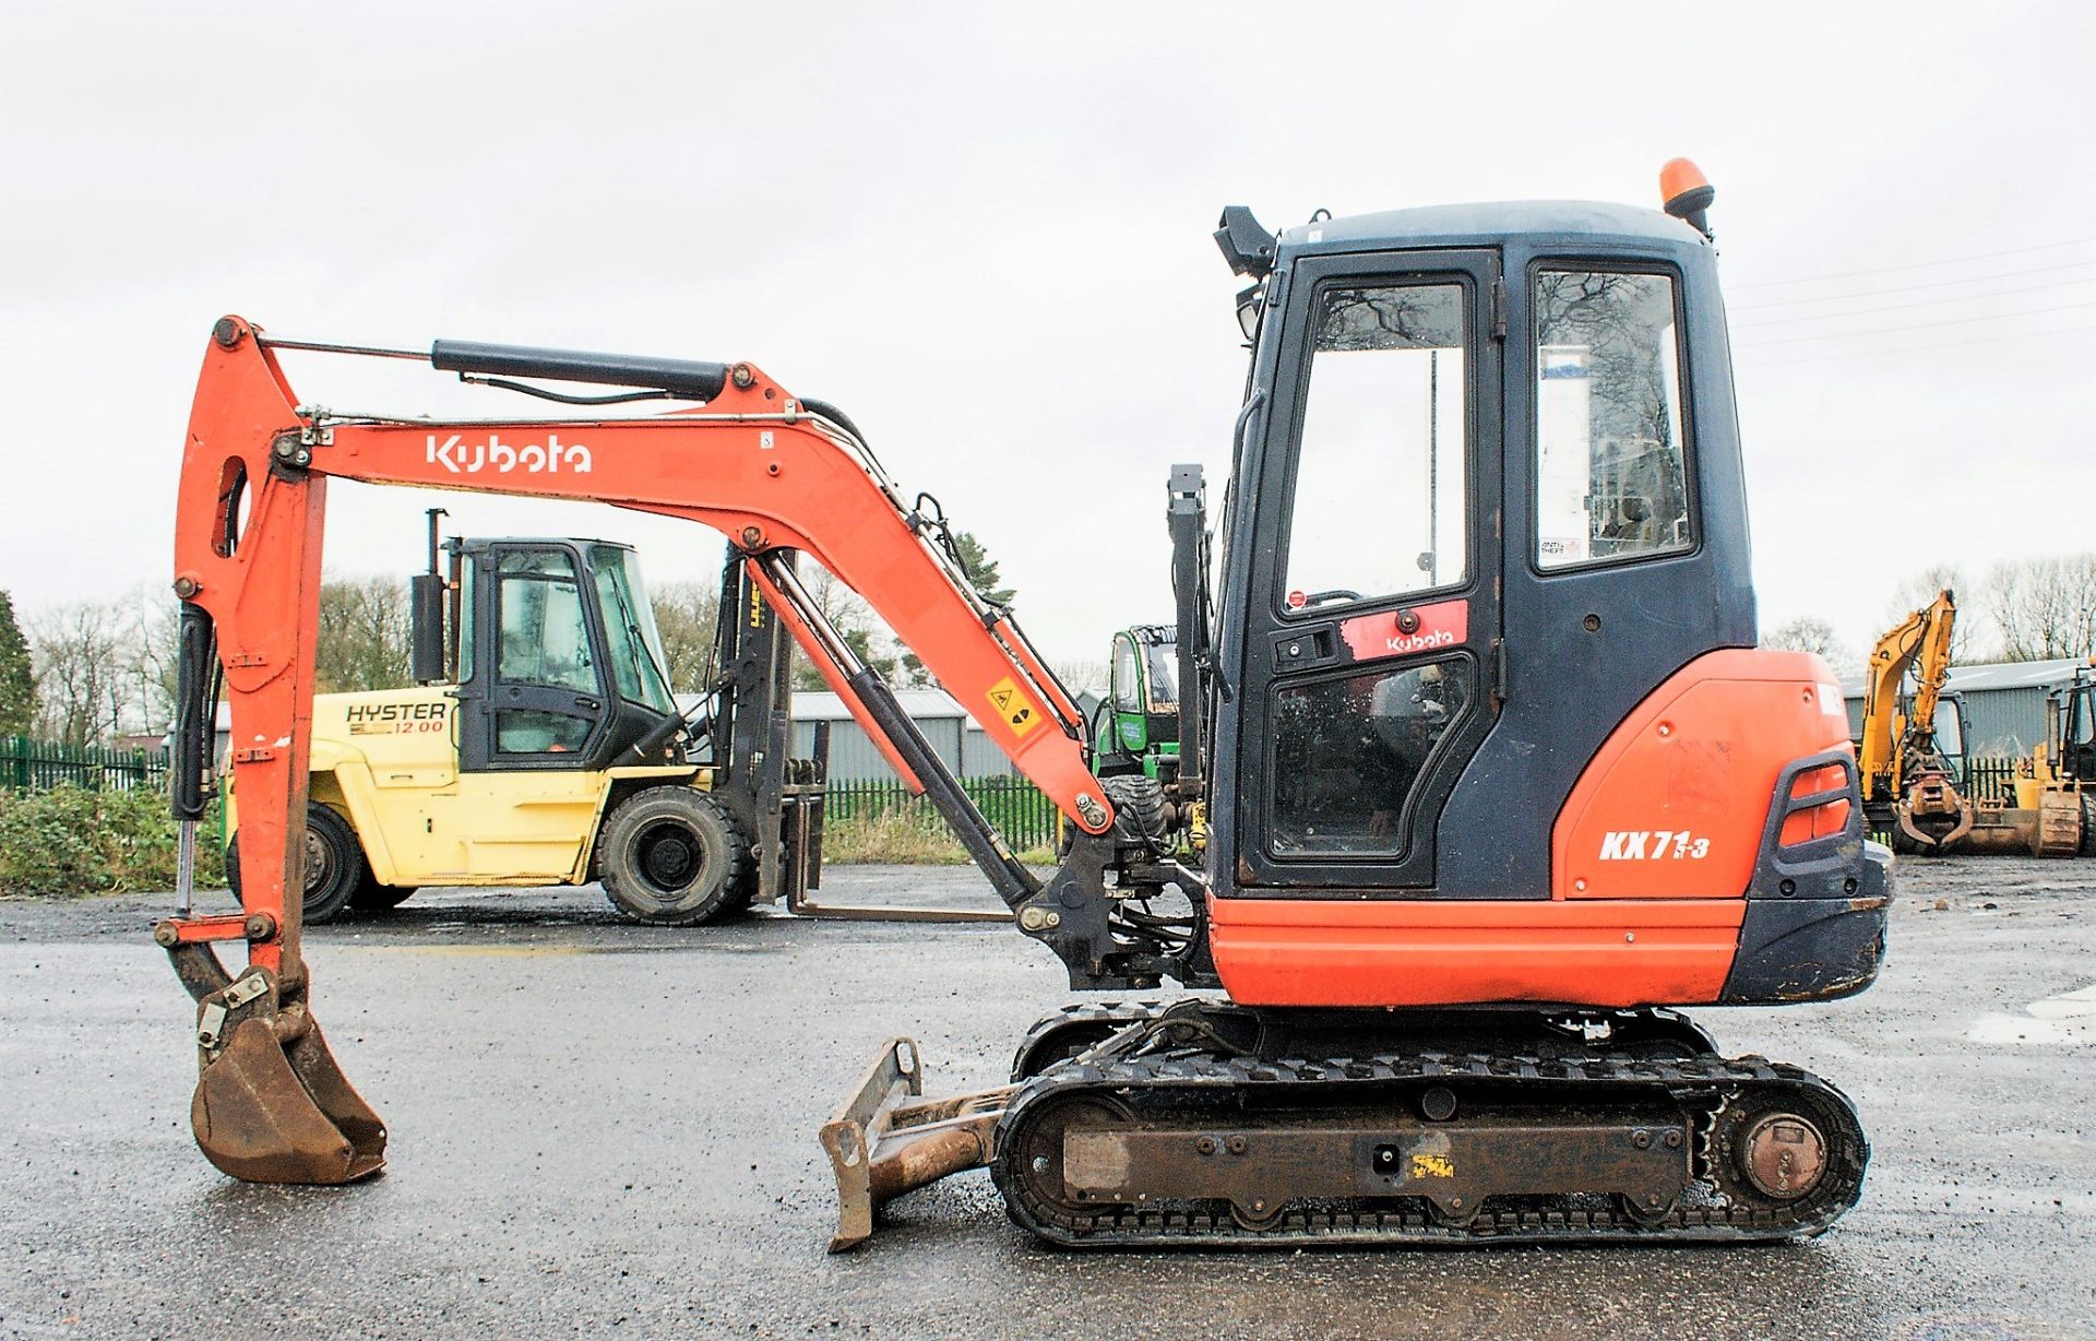
[{"label": "rusty dozer blade at front of the orange excavator's tracks", "polygon": [[924,1064],[916,1039],[889,1039],[859,1087],[822,1127],[836,1171],[836,1234],[843,1253],[874,1236],[874,1211],[947,1173],[981,1169],[996,1155],[998,1119],[1017,1085],[920,1098]]}]

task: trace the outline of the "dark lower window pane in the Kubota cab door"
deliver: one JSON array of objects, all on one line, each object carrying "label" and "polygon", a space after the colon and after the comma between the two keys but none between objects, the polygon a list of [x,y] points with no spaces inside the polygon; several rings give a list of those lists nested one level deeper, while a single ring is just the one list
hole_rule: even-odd
[{"label": "dark lower window pane in the Kubota cab door", "polygon": [[1274,702],[1274,857],[1404,851],[1404,807],[1469,702],[1461,662],[1283,689]]}]

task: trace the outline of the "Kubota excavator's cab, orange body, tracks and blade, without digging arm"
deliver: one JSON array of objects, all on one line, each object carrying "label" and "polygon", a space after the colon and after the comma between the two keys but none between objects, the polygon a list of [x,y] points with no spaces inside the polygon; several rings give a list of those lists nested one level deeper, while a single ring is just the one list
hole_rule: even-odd
[{"label": "Kubota excavator's cab, orange body, tracks and blade, without digging arm", "polygon": [[956,1123],[1065,1245],[1782,1238],[1855,1201],[1849,1102],[1668,1010],[1868,987],[1891,853],[1832,673],[1754,645],[1710,191],[1664,180],[1675,218],[1224,212],[1253,352],[1214,564],[1201,471],[1167,494],[1199,880],[1123,863],[1088,922],[1079,836],[1019,924],[1073,987],[1228,999],[1050,1016],[977,1117],[897,1048],[824,1131],[834,1247]]}]

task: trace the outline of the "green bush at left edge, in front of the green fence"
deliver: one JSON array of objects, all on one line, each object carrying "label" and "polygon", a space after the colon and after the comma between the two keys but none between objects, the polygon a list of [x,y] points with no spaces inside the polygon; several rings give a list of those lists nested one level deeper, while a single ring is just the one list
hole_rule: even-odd
[{"label": "green bush at left edge, in front of the green fence", "polygon": [[[157,788],[0,792],[4,895],[174,888],[176,847],[168,796]],[[197,884],[224,884],[216,813],[197,826]]]}]

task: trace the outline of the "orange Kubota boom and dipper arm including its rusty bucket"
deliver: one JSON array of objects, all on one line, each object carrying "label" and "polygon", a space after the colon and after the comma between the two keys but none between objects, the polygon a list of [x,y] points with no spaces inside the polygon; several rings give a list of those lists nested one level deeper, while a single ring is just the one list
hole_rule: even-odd
[{"label": "orange Kubota boom and dipper arm including its rusty bucket", "polygon": [[[432,421],[335,415],[302,404],[272,348],[428,358],[461,377],[555,377],[704,400],[646,419]],[[532,388],[516,388],[532,390]],[[612,396],[620,400],[631,396]],[[1010,616],[983,601],[935,541],[937,522],[903,507],[840,415],[796,400],[750,365],[618,358],[440,342],[432,354],[272,342],[222,318],[205,352],[176,515],[174,591],[184,629],[184,779],[176,813],[193,834],[208,761],[201,704],[222,675],[231,769],[241,794],[241,916],[161,922],[155,939],[199,1002],[197,1142],[226,1173],[258,1182],[350,1182],[384,1163],[386,1129],[342,1077],[306,1010],[300,955],[304,815],[312,738],[314,629],[327,480],[409,484],[612,503],[685,518],[729,536],[813,664],[939,803],[1023,930],[1073,974],[1092,945],[1056,935],[1061,914],[922,746],[895,698],[782,562],[813,555],[859,593],[1069,817],[1082,851],[1109,844],[1113,807],[1092,775],[1084,719]],[[216,650],[216,656],[212,654]],[[214,666],[216,662],[216,666]],[[1031,901],[1031,903],[1029,903]],[[1102,903],[1102,895],[1096,903]],[[1027,905],[1027,907],[1021,907]],[[1100,914],[1102,916],[1102,914]],[[1094,916],[1092,922],[1098,922]],[[245,941],[247,968],[212,943]]]}]

